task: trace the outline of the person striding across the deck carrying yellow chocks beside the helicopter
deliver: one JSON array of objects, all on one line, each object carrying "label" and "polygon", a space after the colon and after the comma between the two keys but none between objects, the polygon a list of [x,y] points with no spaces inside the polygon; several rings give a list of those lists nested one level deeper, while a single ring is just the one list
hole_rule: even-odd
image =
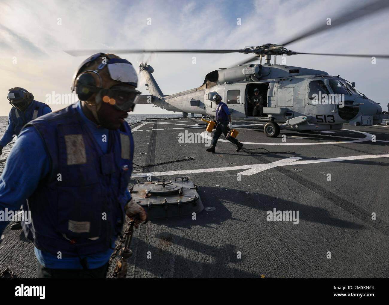
[{"label": "person striding across the deck carrying yellow chocks beside the helicopter", "polygon": [[[227,137],[227,133],[232,127],[231,114],[230,111],[228,111],[228,106],[221,101],[222,97],[219,94],[216,94],[214,95],[213,100],[217,105],[217,109],[216,109],[217,125],[216,125],[215,134],[212,138],[212,146],[206,149],[207,152],[212,152],[212,153],[215,152],[216,143],[219,137],[221,136],[221,134],[223,133],[224,136]],[[236,149],[237,152],[240,151],[240,149],[243,146],[242,143],[240,143],[237,139],[233,137],[228,137],[228,140],[230,140],[231,143],[237,145],[237,149]]]}]

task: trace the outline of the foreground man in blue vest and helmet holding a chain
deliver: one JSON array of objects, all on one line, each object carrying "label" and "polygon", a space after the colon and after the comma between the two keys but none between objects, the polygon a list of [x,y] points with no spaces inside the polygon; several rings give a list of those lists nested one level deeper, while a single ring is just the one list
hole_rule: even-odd
[{"label": "foreground man in blue vest and helmet holding a chain", "polygon": [[137,80],[127,60],[90,56],[73,79],[80,101],[28,123],[9,154],[0,210],[23,204],[39,278],[105,278],[124,214],[138,216],[135,227],[147,219],[127,189],[134,143],[124,119]]}]

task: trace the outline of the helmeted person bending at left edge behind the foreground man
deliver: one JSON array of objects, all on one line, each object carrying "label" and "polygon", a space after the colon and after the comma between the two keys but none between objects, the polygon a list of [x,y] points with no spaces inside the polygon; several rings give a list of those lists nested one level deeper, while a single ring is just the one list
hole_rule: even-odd
[{"label": "helmeted person bending at left edge behind the foreground man", "polygon": [[[51,112],[49,105],[34,100],[32,93],[21,87],[8,90],[8,102],[12,105],[8,116],[8,128],[0,141],[0,155],[5,145],[12,141],[14,135],[18,136],[20,130],[31,120]],[[11,226],[11,230],[21,229],[20,221]]]}]

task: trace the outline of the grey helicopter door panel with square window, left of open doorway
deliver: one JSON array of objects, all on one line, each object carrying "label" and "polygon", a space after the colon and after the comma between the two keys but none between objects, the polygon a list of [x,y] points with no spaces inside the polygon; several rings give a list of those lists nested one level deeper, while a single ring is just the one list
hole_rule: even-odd
[{"label": "grey helicopter door panel with square window, left of open doorway", "polygon": [[230,110],[231,117],[245,118],[246,84],[228,84],[224,88],[223,102]]}]

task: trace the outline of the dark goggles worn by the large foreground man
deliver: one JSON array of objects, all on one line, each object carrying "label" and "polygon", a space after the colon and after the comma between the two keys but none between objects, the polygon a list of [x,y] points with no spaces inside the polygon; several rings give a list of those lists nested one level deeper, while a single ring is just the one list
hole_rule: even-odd
[{"label": "dark goggles worn by the large foreground man", "polygon": [[141,92],[124,86],[113,86],[98,93],[102,102],[108,103],[120,111],[130,112],[134,109]]}]

